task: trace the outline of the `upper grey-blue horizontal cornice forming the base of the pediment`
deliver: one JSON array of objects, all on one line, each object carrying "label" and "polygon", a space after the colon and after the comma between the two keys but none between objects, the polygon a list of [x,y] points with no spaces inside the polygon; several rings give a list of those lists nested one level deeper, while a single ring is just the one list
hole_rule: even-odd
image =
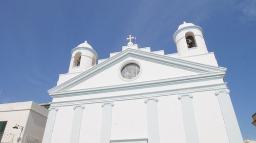
[{"label": "upper grey-blue horizontal cornice forming the base of the pediment", "polygon": [[89,88],[89,89],[83,89],[83,90],[52,92],[50,93],[50,95],[52,98],[91,95],[91,94],[98,94],[98,93],[145,89],[145,88],[161,87],[165,85],[223,79],[224,76],[225,76],[225,72],[216,72],[216,73],[207,73],[207,74],[159,79],[159,80],[144,81],[144,82],[126,83],[126,84],[112,85],[107,87]]}]

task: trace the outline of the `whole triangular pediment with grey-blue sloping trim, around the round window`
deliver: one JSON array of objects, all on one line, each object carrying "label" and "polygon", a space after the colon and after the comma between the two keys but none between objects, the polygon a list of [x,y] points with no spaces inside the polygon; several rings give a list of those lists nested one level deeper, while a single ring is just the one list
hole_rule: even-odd
[{"label": "whole triangular pediment with grey-blue sloping trim, around the round window", "polygon": [[[134,61],[141,68],[139,77],[125,80],[120,70],[125,63]],[[136,49],[126,49],[112,58],[92,67],[76,77],[54,87],[48,92],[79,91],[83,89],[125,86],[164,79],[189,78],[208,73],[225,72],[226,68],[203,65],[165,55]]]}]

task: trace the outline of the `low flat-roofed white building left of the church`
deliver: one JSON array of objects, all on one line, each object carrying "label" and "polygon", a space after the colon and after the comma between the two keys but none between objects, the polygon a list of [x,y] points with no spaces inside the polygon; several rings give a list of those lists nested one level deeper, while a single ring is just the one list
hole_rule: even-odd
[{"label": "low flat-roofed white building left of the church", "polygon": [[48,110],[33,101],[0,104],[1,143],[40,143]]}]

